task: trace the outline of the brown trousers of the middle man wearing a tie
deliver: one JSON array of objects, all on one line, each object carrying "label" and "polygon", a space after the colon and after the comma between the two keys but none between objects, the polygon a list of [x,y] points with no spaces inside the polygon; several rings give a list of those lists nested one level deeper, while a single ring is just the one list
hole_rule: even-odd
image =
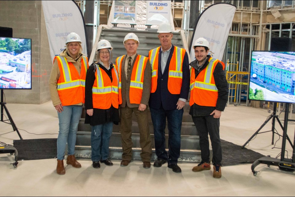
[{"label": "brown trousers of the middle man wearing a tie", "polygon": [[132,128],[132,113],[134,112],[138,123],[138,129],[140,134],[140,157],[143,162],[151,161],[151,134],[148,128],[148,108],[144,111],[139,111],[138,107],[121,107],[120,108],[120,131],[122,136],[122,160],[130,161],[132,158],[132,139],[131,139],[131,128]]}]

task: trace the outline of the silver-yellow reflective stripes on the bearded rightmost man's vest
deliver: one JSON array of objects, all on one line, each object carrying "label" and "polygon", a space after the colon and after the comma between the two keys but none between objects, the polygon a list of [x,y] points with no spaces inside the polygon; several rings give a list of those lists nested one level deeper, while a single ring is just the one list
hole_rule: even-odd
[{"label": "silver-yellow reflective stripes on the bearded rightmost man's vest", "polygon": [[[213,59],[213,58],[210,59],[209,64],[206,67],[204,82],[195,81],[195,88],[218,92],[216,85],[211,83],[213,67],[214,67],[215,61],[219,61],[219,60]],[[192,84],[191,84],[191,86],[192,86]],[[191,87],[191,89],[192,89],[192,87]]]}]

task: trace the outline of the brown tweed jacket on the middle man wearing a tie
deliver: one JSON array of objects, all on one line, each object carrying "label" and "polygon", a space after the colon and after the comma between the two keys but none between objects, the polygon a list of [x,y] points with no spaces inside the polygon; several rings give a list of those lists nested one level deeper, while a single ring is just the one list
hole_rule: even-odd
[{"label": "brown tweed jacket on the middle man wearing a tie", "polygon": [[[134,60],[137,58],[137,55],[135,55]],[[124,56],[122,60],[122,68],[121,68],[121,86],[122,86],[122,104],[120,107],[125,107],[126,103],[128,107],[139,107],[139,104],[131,104],[130,99],[129,99],[129,87],[130,87],[130,79],[131,79],[131,74],[129,75],[128,79],[126,78],[125,74],[125,59],[126,56]],[[132,62],[131,65],[131,70],[133,70],[134,66],[134,61]],[[127,66],[127,65],[126,65]],[[142,98],[140,103],[148,105],[148,100],[150,98],[150,93],[151,93],[151,64],[150,61],[147,62],[147,65],[144,70],[144,85],[143,85],[143,91],[142,91]]]}]

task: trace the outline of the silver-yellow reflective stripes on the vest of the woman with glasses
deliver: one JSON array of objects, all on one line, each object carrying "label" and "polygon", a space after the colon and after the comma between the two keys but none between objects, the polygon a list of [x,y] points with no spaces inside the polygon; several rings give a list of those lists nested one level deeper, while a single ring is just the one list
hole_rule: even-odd
[{"label": "silver-yellow reflective stripes on the vest of the woman with glasses", "polygon": [[[117,87],[114,87],[114,86],[104,87],[104,80],[102,77],[100,67],[97,64],[95,64],[95,66],[96,66],[96,71],[97,71],[97,87],[92,87],[92,93],[93,94],[107,94],[107,93],[115,92],[116,94],[119,94],[119,90]],[[116,73],[117,82],[119,82],[118,72],[115,68],[114,68],[114,70]]]}]

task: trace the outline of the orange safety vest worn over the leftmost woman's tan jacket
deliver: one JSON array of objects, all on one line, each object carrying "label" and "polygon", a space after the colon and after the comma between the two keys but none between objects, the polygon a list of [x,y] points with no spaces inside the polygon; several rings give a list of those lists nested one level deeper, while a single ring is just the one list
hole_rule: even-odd
[{"label": "orange safety vest worn over the leftmost woman's tan jacket", "polygon": [[85,78],[88,69],[88,58],[82,56],[81,73],[79,75],[73,63],[65,57],[55,56],[61,72],[57,80],[57,92],[63,106],[85,103]]}]

